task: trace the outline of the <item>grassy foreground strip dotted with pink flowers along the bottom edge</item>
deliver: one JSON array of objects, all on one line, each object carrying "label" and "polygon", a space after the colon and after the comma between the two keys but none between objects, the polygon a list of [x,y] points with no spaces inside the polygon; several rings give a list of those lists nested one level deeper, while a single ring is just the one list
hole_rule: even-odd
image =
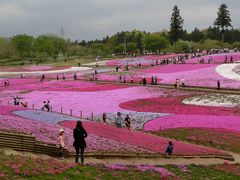
[{"label": "grassy foreground strip dotted with pink flowers along the bottom edge", "polygon": [[[144,167],[148,167],[145,165]],[[140,171],[133,166],[124,169],[109,169],[104,165],[75,165],[55,159],[42,160],[22,156],[7,156],[0,152],[0,179],[32,179],[32,180],[70,180],[70,179],[240,179],[240,165],[166,165],[155,166],[165,169],[172,175],[155,170]],[[163,174],[162,174],[163,173]]]}]

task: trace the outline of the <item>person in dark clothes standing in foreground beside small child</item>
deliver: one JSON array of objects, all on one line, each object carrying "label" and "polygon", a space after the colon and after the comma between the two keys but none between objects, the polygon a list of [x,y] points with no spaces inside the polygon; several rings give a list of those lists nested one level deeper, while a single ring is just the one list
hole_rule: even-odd
[{"label": "person in dark clothes standing in foreground beside small child", "polygon": [[74,143],[73,146],[76,150],[75,162],[78,163],[79,151],[81,154],[81,165],[84,163],[84,150],[87,147],[85,138],[88,136],[86,130],[82,126],[81,121],[77,121],[76,128],[73,130]]}]

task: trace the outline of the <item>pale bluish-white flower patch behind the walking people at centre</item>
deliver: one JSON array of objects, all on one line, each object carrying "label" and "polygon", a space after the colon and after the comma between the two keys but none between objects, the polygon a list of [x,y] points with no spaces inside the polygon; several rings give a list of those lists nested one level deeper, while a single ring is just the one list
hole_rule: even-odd
[{"label": "pale bluish-white flower patch behind the walking people at centre", "polygon": [[[107,123],[115,124],[117,112],[114,113],[106,113]],[[149,113],[149,112],[121,112],[123,121],[126,115],[128,114],[131,122],[131,129],[141,130],[143,129],[143,125],[149,120],[156,119],[162,116],[166,116],[168,114],[164,113]],[[94,119],[102,121],[102,115],[95,116]],[[124,123],[124,122],[123,122]],[[123,124],[125,126],[125,123]]]}]

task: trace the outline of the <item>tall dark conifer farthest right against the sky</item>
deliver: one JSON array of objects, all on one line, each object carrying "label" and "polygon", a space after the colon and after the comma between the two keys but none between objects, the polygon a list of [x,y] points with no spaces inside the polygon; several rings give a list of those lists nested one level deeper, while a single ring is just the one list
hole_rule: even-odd
[{"label": "tall dark conifer farthest right against the sky", "polygon": [[228,27],[232,27],[232,20],[230,17],[230,12],[227,9],[227,5],[226,4],[221,4],[221,6],[218,9],[217,12],[217,19],[214,22],[214,25],[217,26],[220,30],[221,30],[221,34],[222,34],[222,44],[224,43],[224,32],[225,29]]}]

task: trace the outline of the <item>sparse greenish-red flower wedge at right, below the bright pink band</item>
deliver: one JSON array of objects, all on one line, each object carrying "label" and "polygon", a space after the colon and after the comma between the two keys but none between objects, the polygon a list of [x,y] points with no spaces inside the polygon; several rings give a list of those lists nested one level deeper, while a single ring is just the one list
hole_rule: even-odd
[{"label": "sparse greenish-red flower wedge at right, below the bright pink band", "polygon": [[240,153],[240,131],[213,128],[176,128],[154,134],[189,143],[201,144],[225,151]]}]

